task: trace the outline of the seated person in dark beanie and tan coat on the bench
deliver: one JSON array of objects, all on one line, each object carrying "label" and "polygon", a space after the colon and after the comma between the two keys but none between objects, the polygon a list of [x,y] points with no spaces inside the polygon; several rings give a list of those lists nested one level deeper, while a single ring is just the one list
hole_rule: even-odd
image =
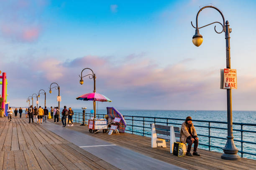
[{"label": "seated person in dark beanie and tan coat on the bench", "polygon": [[[188,143],[187,146],[187,156],[200,156],[200,154],[197,153],[197,146],[198,146],[198,137],[197,132],[195,130],[195,127],[192,123],[192,118],[188,116],[186,118],[186,121],[182,123],[182,127],[180,130],[180,141],[182,143]],[[191,147],[194,143],[194,150],[193,155],[190,153]]]}]

